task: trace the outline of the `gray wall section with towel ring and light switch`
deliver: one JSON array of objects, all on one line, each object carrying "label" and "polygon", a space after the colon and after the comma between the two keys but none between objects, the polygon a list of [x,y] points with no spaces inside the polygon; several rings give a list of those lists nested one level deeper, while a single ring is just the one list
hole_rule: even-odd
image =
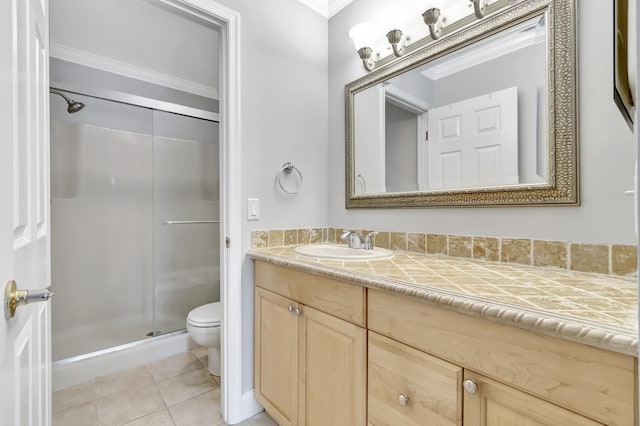
[{"label": "gray wall section with towel ring and light switch", "polygon": [[[328,222],[327,20],[295,0],[218,0],[241,13],[242,194],[260,199],[259,221],[246,221],[242,250],[253,229],[307,228]],[[275,178],[291,161],[304,175],[287,195]],[[245,258],[242,388],[253,389],[253,262]]]}]

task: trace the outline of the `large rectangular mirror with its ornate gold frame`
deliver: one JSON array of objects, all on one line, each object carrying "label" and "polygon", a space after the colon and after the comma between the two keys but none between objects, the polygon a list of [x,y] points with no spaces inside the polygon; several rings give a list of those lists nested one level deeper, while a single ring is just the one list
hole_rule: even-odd
[{"label": "large rectangular mirror with its ornate gold frame", "polygon": [[347,208],[578,204],[575,30],[528,0],[348,84]]}]

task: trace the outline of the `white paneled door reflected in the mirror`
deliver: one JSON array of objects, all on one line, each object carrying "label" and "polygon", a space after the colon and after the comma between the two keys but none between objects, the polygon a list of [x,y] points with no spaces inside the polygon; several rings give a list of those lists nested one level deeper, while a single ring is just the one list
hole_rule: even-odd
[{"label": "white paneled door reflected in the mirror", "polygon": [[429,189],[519,183],[518,89],[429,111]]}]

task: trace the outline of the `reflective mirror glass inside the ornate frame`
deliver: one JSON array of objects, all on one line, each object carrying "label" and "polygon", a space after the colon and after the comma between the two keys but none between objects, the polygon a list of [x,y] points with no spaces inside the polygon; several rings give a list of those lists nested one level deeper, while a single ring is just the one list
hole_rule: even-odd
[{"label": "reflective mirror glass inside the ornate frame", "polygon": [[354,95],[355,194],[549,183],[544,15]]}]

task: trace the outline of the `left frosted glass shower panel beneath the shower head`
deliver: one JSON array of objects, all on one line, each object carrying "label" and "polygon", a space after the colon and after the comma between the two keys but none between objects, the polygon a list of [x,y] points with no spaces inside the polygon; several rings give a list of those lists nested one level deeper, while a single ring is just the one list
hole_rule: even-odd
[{"label": "left frosted glass shower panel beneath the shower head", "polygon": [[142,340],[153,319],[151,110],[73,97],[78,114],[51,99],[54,361]]}]

